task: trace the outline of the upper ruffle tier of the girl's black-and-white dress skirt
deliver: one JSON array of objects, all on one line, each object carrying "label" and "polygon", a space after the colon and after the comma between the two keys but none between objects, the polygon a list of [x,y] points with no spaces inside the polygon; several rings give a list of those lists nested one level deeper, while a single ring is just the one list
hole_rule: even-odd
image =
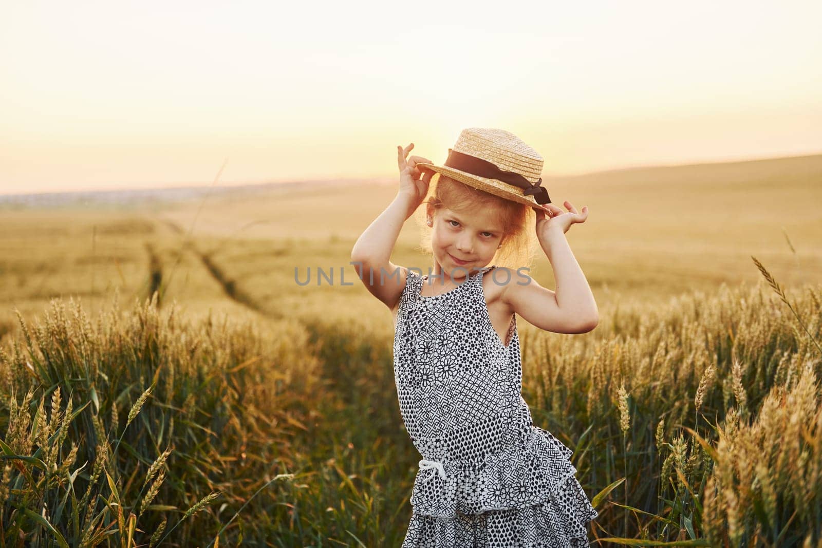
[{"label": "upper ruffle tier of the girl's black-and-white dress skirt", "polygon": [[587,521],[598,514],[574,477],[570,449],[551,432],[529,425],[516,443],[505,444],[483,461],[442,463],[446,478],[436,470],[420,469],[410,503],[418,516],[456,518],[459,513],[524,509],[555,500],[561,491],[576,503],[566,509],[571,521]]}]

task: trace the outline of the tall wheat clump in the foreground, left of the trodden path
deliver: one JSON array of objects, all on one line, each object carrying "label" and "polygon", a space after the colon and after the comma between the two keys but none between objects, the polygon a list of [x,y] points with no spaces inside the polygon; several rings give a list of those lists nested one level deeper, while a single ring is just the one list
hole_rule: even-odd
[{"label": "tall wheat clump in the foreground, left of the trodden path", "polygon": [[293,471],[316,368],[298,330],[189,325],[156,298],[96,324],[53,301],[0,353],[6,546],[210,541],[204,523]]}]

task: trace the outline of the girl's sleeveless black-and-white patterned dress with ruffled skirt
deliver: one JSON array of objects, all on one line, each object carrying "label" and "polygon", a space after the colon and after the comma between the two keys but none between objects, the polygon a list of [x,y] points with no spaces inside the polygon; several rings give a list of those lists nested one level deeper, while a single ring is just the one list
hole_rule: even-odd
[{"label": "girl's sleeveless black-and-white patterned dress with ruffled skirt", "polygon": [[587,523],[598,512],[574,476],[572,451],[533,426],[521,395],[516,315],[507,346],[488,315],[483,274],[493,268],[434,297],[419,294],[427,276],[406,270],[394,375],[423,459],[402,546],[590,546]]}]

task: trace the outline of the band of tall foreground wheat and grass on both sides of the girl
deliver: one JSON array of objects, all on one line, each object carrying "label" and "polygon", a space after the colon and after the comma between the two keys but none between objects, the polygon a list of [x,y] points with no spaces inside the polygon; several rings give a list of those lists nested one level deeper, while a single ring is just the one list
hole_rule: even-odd
[{"label": "band of tall foreground wheat and grass on both sides of the girl", "polygon": [[[628,306],[584,336],[521,324],[524,398],[575,449],[592,538],[820,545],[822,288],[771,289]],[[155,305],[92,324],[52,302],[0,352],[5,546],[399,544],[418,455],[390,338]]]}]

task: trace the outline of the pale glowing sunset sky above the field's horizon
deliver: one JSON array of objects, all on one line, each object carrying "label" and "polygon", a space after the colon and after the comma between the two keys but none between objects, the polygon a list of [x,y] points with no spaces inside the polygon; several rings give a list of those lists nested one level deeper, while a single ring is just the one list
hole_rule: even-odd
[{"label": "pale glowing sunset sky above the field's horizon", "polygon": [[822,153],[822,2],[7,2],[0,194]]}]

